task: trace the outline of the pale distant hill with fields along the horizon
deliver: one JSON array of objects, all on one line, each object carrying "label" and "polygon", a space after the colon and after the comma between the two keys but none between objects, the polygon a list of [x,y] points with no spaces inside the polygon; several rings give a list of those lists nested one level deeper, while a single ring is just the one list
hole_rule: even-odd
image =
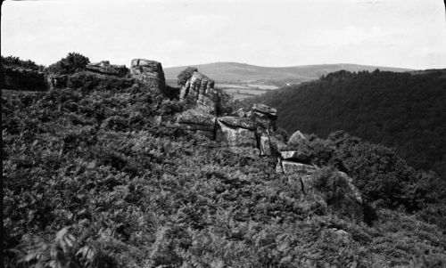
[{"label": "pale distant hill with fields along the horizon", "polygon": [[[293,67],[263,67],[237,62],[215,62],[209,64],[191,65],[208,77],[217,82],[240,82],[249,83],[255,81],[290,81],[302,82],[317,79],[323,75],[335,72],[341,69],[348,71],[375,69],[389,70],[395,72],[409,71],[410,69],[389,68],[380,66],[368,66],[358,64],[319,64],[302,65]],[[178,73],[187,66],[171,67],[164,69],[164,75],[167,79],[177,79]]]}]

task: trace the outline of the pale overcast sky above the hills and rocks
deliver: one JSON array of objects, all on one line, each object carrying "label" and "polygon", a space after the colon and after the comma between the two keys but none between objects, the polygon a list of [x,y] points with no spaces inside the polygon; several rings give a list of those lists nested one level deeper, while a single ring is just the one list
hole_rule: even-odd
[{"label": "pale overcast sky above the hills and rocks", "polygon": [[442,0],[5,1],[2,55],[446,68]]}]

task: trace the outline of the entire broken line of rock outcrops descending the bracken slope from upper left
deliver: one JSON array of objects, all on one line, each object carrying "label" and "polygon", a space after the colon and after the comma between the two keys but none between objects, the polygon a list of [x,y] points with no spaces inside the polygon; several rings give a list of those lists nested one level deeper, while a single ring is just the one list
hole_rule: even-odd
[{"label": "entire broken line of rock outcrops descending the bracken slope from upper left", "polygon": [[[87,70],[107,76],[120,77],[122,72],[108,61],[89,65]],[[118,67],[123,69],[125,67]],[[128,78],[145,85],[151,90],[160,91],[166,87],[161,63],[145,59],[131,61]],[[66,76],[49,77],[50,85],[60,87],[66,85]],[[199,134],[211,140],[227,144],[235,153],[257,154],[265,158],[277,159],[277,173],[287,175],[289,180],[299,182],[300,191],[304,194],[326,196],[321,191],[318,173],[320,166],[309,163],[309,156],[298,150],[299,144],[306,142],[306,137],[296,131],[289,139],[277,132],[277,110],[264,104],[253,104],[250,110],[234,110],[222,112],[221,107],[227,105],[225,93],[215,88],[215,82],[196,68],[188,68],[178,76],[179,102],[186,110],[175,116],[175,122],[169,124],[173,128],[188,134]],[[162,117],[156,118],[161,124]],[[343,197],[338,198],[335,206],[347,211],[358,221],[362,220],[362,198],[352,179],[343,172],[337,172],[335,178],[329,178],[330,185],[341,187]],[[326,198],[329,199],[329,198]]]}]

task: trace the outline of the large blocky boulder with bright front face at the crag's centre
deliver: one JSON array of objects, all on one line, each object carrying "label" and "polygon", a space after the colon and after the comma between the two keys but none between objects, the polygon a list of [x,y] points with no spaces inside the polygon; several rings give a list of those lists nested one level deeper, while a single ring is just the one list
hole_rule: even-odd
[{"label": "large blocky boulder with bright front face at the crag's centre", "polygon": [[[229,124],[227,123],[229,122]],[[227,117],[217,120],[216,140],[230,147],[257,147],[255,131],[245,118]],[[254,127],[255,129],[255,127]]]}]

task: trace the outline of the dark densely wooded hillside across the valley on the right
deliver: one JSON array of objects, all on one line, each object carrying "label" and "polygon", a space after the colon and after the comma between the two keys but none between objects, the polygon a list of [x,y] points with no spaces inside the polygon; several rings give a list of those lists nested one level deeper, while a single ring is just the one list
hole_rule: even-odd
[{"label": "dark densely wooded hillside across the valley on the right", "polygon": [[278,125],[321,137],[343,130],[394,148],[446,180],[446,70],[339,71],[249,102],[278,110]]}]

